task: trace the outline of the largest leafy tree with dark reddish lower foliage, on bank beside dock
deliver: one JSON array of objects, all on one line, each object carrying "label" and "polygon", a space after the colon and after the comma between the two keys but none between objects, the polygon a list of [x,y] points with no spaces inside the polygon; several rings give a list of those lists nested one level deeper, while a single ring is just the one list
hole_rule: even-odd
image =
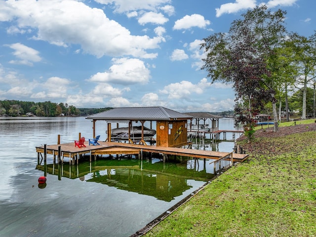
[{"label": "largest leafy tree with dark reddish lower foliage, on bank beside dock", "polygon": [[233,83],[237,101],[248,100],[249,119],[240,122],[250,123],[251,117],[271,101],[275,132],[276,93],[281,83],[276,58],[277,48],[285,39],[285,14],[281,10],[272,13],[265,5],[257,6],[242,14],[242,20],[233,21],[227,34],[215,33],[201,44],[207,53],[202,69],[212,82]]}]

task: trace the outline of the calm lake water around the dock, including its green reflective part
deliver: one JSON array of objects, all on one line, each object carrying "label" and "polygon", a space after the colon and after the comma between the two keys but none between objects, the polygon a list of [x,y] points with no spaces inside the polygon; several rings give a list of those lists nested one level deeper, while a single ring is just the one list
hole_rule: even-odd
[{"label": "calm lake water around the dock, including its green reflective part", "polygon": [[[220,119],[232,130],[233,119]],[[106,139],[106,124],[96,133]],[[47,159],[47,181],[37,166],[36,146],[92,137],[85,118],[0,119],[0,237],[126,237],[190,195],[213,177],[211,160],[163,164],[160,157],[97,159],[79,165]],[[199,148],[232,151],[234,142]]]}]

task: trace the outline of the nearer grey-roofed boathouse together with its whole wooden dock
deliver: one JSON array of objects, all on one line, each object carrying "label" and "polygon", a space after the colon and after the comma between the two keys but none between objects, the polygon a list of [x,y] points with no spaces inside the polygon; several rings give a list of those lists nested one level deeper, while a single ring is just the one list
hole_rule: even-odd
[{"label": "nearer grey-roofed boathouse together with its whole wooden dock", "polygon": [[[209,159],[230,159],[233,163],[237,161],[243,161],[247,155],[245,154],[233,154],[232,152],[217,152],[217,151],[206,151],[197,149],[180,148],[188,145],[188,120],[192,120],[194,117],[188,114],[176,112],[171,109],[164,107],[122,107],[106,110],[97,114],[87,116],[86,119],[90,119],[93,122],[93,137],[96,136],[96,121],[103,120],[107,123],[107,139],[105,142],[99,142],[98,145],[89,145],[88,142],[84,142],[85,146],[76,147],[73,142],[55,145],[44,145],[36,147],[38,152],[38,163],[40,163],[40,156],[44,154],[44,160],[46,154],[52,154],[54,162],[56,156],[58,156],[58,163],[64,157],[69,157],[69,161],[73,164],[76,159],[77,162],[81,155],[90,155],[96,158],[97,155],[115,155],[115,154],[138,154],[139,157],[141,152],[152,152],[161,153],[163,155],[180,155],[194,158],[209,158]],[[147,145],[145,136],[147,132],[153,135],[154,129],[151,127],[147,129],[144,127],[146,121],[156,122],[156,145],[154,142],[150,142],[151,145]],[[138,144],[132,141],[132,123],[141,122],[141,127],[138,128],[140,131],[140,140]],[[128,140],[113,141],[111,138],[111,123],[127,123],[127,130],[120,132],[128,132]],[[152,125],[151,125],[152,126]],[[104,128],[100,128],[104,131]],[[123,134],[121,133],[121,134]],[[80,139],[80,133],[79,133]],[[59,141],[59,140],[58,140]],[[123,142],[124,141],[124,142]],[[164,156],[165,157],[165,156]]]}]

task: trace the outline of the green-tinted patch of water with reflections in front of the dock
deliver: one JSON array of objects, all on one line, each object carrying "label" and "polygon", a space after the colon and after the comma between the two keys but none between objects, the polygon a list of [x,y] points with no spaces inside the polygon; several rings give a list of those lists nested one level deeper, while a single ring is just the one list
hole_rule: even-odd
[{"label": "green-tinted patch of water with reflections in front of the dock", "polygon": [[[182,159],[182,157],[181,157]],[[163,162],[158,158],[145,159],[98,159],[81,161],[77,165],[37,165],[44,175],[58,175],[58,179],[80,179],[120,190],[154,196],[170,202],[192,188],[189,180],[207,182],[214,177],[206,172],[209,159],[185,159]],[[200,164],[200,165],[199,165]],[[202,167],[202,168],[201,168]]]}]

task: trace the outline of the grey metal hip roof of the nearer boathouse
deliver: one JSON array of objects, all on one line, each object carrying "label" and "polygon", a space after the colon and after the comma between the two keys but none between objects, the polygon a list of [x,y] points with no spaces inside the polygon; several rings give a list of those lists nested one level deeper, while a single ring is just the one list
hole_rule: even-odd
[{"label": "grey metal hip roof of the nearer boathouse", "polygon": [[86,119],[95,120],[131,120],[131,121],[158,121],[158,120],[186,120],[193,117],[187,114],[164,107],[120,107],[92,114]]}]

